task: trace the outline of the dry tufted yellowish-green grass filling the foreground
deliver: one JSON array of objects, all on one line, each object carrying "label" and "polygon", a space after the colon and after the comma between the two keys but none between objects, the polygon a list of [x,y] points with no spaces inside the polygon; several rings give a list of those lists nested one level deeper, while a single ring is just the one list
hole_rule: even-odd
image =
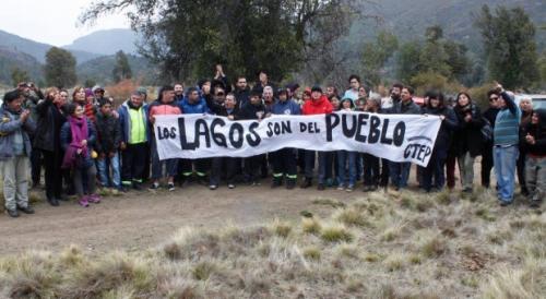
[{"label": "dry tufted yellowish-green grass filling the foreground", "polygon": [[314,199],[330,217],[186,227],[144,252],[25,252],[0,259],[0,297],[544,298],[546,217],[519,200],[363,193]]}]

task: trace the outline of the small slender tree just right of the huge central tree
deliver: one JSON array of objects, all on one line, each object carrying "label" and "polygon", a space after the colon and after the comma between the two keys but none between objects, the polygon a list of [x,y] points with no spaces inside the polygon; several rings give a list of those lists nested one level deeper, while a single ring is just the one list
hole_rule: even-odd
[{"label": "small slender tree just right of the huge central tree", "polygon": [[365,43],[363,50],[364,77],[377,86],[384,75],[383,67],[399,47],[399,39],[388,32],[380,32],[376,43]]}]

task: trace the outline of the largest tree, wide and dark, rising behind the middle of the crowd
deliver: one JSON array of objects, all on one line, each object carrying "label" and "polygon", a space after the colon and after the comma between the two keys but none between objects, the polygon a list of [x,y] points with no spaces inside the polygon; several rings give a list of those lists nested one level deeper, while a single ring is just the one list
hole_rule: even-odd
[{"label": "largest tree, wide and dark, rising behind the middle of the crowd", "polygon": [[352,2],[108,0],[92,4],[81,20],[132,8],[131,26],[143,35],[139,51],[159,64],[167,79],[210,76],[222,63],[229,76],[254,77],[265,70],[280,81],[331,52],[348,31],[356,12],[348,9]]}]

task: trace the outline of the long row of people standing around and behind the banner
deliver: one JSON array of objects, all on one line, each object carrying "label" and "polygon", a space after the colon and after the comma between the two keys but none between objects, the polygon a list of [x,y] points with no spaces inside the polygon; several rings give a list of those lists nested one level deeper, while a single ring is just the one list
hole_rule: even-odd
[{"label": "long row of people standing around and behind the banner", "polygon": [[[462,192],[473,192],[474,162],[482,156],[482,186],[496,188],[501,206],[513,202],[515,174],[521,193],[538,207],[546,191],[546,111],[533,110],[532,101],[517,104],[499,84],[488,94],[489,107],[482,112],[471,95],[461,92],[452,100],[440,91],[425,94],[423,106],[414,101],[411,86],[393,84],[381,97],[367,89],[358,75],[351,75],[348,89],[333,85],[277,87],[265,72],[250,86],[246,76],[234,85],[218,65],[212,80],[194,86],[165,85],[157,99],[149,100],[145,88],[132,92],[115,107],[100,86],[67,89],[49,87],[43,93],[33,83],[21,83],[8,92],[0,108],[0,162],[5,211],[33,214],[28,182],[41,183],[44,168],[47,202],[58,206],[76,195],[82,206],[99,203],[99,188],[119,192],[166,188],[175,191],[190,184],[216,190],[245,183],[258,186],[271,176],[271,188],[336,188],[352,192],[363,181],[363,191],[405,189],[411,163],[390,162],[351,151],[314,152],[282,148],[246,158],[214,157],[159,160],[153,123],[156,116],[212,113],[229,120],[260,120],[271,115],[321,115],[366,111],[437,116],[441,119],[436,144],[426,167],[416,167],[416,181],[424,192],[455,187],[455,162]],[[490,183],[495,169],[496,186]],[[28,174],[31,172],[31,174]],[[164,183],[164,187],[162,187]]]}]

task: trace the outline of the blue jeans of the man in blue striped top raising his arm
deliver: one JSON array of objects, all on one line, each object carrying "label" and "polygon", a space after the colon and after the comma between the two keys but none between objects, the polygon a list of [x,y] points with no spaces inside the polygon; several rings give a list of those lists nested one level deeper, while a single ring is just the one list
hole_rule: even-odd
[{"label": "blue jeans of the man in blue striped top raising his arm", "polygon": [[518,160],[520,150],[518,145],[510,145],[507,147],[495,146],[492,151],[498,198],[503,202],[510,203],[513,201],[515,160]]}]

